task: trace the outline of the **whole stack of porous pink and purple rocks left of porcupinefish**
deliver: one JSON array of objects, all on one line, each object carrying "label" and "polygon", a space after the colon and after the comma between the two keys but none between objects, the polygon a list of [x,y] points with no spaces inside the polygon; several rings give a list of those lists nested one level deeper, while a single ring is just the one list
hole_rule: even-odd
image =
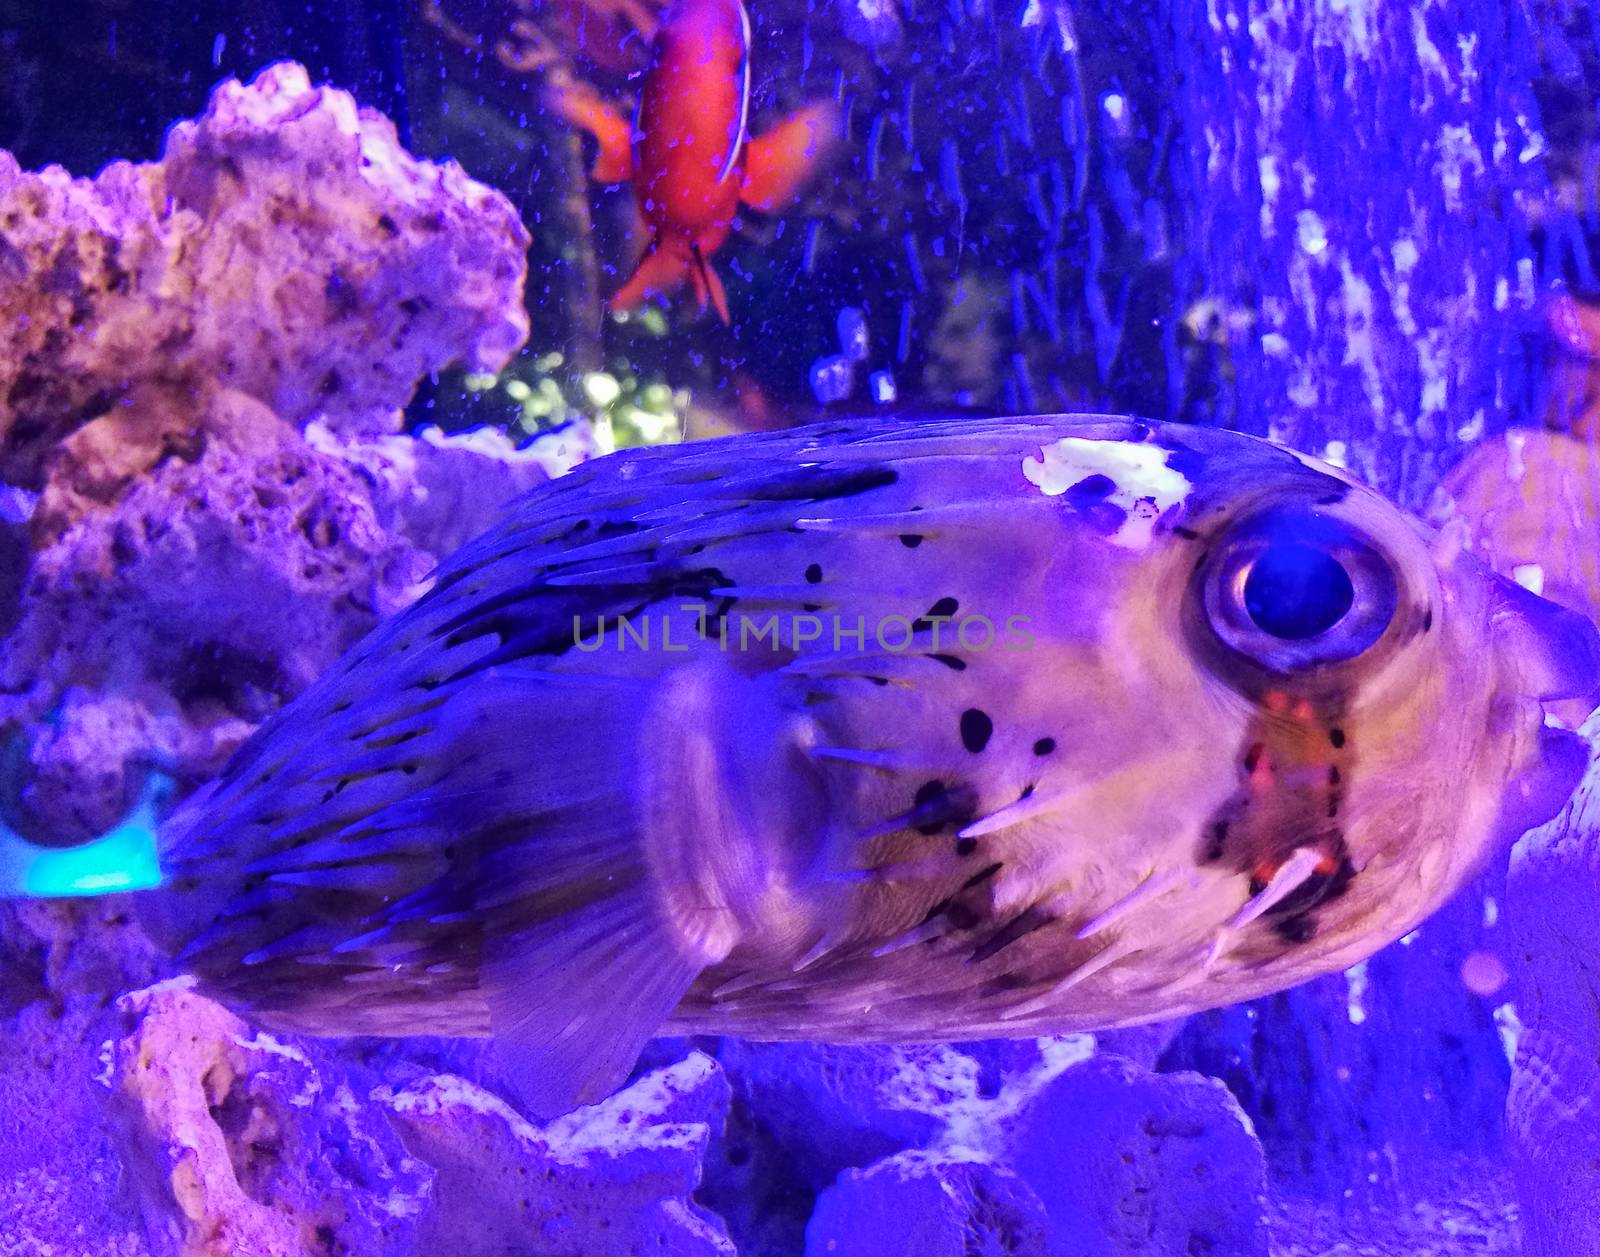
[{"label": "whole stack of porous pink and purple rocks left of porcupinefish", "polygon": [[397,432],[426,374],[522,344],[526,245],[504,195],[288,62],[158,162],[0,154],[0,480],[37,494],[5,534],[6,824],[70,844],[152,769],[213,776],[544,478],[499,435]]}]

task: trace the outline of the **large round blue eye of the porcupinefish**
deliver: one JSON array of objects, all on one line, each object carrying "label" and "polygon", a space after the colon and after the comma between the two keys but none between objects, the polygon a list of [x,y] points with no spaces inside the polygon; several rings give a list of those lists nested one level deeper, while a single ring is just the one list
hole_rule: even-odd
[{"label": "large round blue eye of the porcupinefish", "polygon": [[1274,673],[1355,659],[1384,636],[1398,605],[1395,569],[1378,545],[1309,510],[1243,521],[1198,576],[1216,638]]}]

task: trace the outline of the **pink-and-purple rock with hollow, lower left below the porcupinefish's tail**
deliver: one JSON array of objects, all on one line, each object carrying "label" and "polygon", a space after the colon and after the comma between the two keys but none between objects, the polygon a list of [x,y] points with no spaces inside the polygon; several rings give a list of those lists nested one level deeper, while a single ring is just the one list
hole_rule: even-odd
[{"label": "pink-and-purple rock with hollow, lower left below the porcupinefish's tail", "polygon": [[382,1110],[176,984],[123,1006],[114,1108],[157,1257],[411,1251],[430,1174]]}]

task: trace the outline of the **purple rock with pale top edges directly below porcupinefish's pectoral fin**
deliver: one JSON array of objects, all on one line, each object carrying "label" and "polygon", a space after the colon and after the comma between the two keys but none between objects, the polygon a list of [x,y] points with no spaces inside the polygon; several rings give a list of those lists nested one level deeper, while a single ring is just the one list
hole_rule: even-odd
[{"label": "purple rock with pale top edges directly below porcupinefish's pectoral fin", "polygon": [[728,1084],[702,1054],[536,1127],[474,1084],[435,1075],[389,1100],[437,1171],[418,1252],[451,1257],[733,1257],[690,1193]]}]

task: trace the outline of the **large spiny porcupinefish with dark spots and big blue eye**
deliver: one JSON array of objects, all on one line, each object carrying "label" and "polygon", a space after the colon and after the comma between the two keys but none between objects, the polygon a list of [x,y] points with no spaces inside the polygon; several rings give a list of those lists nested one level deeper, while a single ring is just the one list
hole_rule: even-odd
[{"label": "large spiny porcupinefish with dark spots and big blue eye", "polygon": [[144,896],[310,1035],[1174,1017],[1413,929],[1584,764],[1582,617],[1342,472],[1120,417],[822,424],[514,504],[166,825]]}]

